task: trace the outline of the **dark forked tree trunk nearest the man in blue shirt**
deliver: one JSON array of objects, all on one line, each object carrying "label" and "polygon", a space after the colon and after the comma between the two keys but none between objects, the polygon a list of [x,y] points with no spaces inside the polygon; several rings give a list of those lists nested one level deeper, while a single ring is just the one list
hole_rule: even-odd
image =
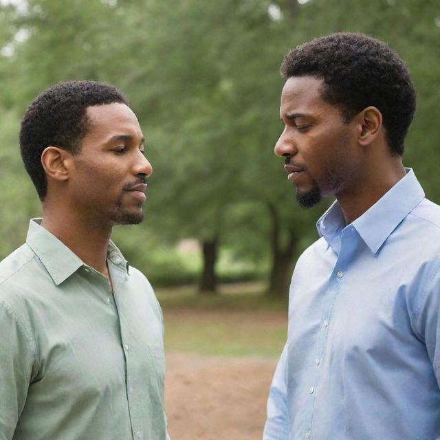
[{"label": "dark forked tree trunk nearest the man in blue shirt", "polygon": [[287,296],[289,294],[289,282],[292,276],[292,261],[298,242],[294,229],[289,228],[287,231],[287,240],[280,244],[280,221],[276,208],[272,204],[268,204],[270,217],[272,219],[272,267],[269,276],[269,287],[267,294],[271,296]]}]

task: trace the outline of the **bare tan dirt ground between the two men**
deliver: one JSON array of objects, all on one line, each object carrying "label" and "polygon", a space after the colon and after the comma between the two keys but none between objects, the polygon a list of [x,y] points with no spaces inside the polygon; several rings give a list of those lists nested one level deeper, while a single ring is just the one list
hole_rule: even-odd
[{"label": "bare tan dirt ground between the two men", "polygon": [[261,440],[276,360],[166,353],[171,440]]}]

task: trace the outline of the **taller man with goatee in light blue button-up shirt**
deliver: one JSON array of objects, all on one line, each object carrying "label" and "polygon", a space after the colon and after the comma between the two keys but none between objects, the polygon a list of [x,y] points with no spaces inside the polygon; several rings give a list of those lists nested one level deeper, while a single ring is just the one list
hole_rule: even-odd
[{"label": "taller man with goatee in light blue button-up shirt", "polygon": [[290,51],[285,158],[300,205],[336,196],[296,264],[264,440],[440,439],[440,207],[404,168],[415,89],[363,34]]}]

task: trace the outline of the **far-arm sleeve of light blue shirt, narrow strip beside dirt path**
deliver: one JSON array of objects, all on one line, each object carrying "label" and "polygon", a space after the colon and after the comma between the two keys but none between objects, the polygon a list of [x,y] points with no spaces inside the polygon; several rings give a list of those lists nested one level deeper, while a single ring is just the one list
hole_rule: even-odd
[{"label": "far-arm sleeve of light blue shirt, narrow strip beside dirt path", "polygon": [[287,440],[289,424],[287,412],[287,343],[276,366],[267,399],[267,420],[263,440]]}]

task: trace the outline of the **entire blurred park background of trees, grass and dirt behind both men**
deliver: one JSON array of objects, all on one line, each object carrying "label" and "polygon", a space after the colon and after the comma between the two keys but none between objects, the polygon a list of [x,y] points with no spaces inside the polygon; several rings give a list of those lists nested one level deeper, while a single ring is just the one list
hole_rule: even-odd
[{"label": "entire blurred park background of trees, grass and dirt behind both men", "polygon": [[144,222],[113,239],[164,309],[174,439],[261,437],[289,278],[331,203],[298,208],[273,154],[278,69],[336,31],[406,61],[418,108],[404,163],[439,203],[440,0],[0,0],[0,259],[41,215],[18,146],[30,101],[63,80],[121,89],[154,174]]}]

